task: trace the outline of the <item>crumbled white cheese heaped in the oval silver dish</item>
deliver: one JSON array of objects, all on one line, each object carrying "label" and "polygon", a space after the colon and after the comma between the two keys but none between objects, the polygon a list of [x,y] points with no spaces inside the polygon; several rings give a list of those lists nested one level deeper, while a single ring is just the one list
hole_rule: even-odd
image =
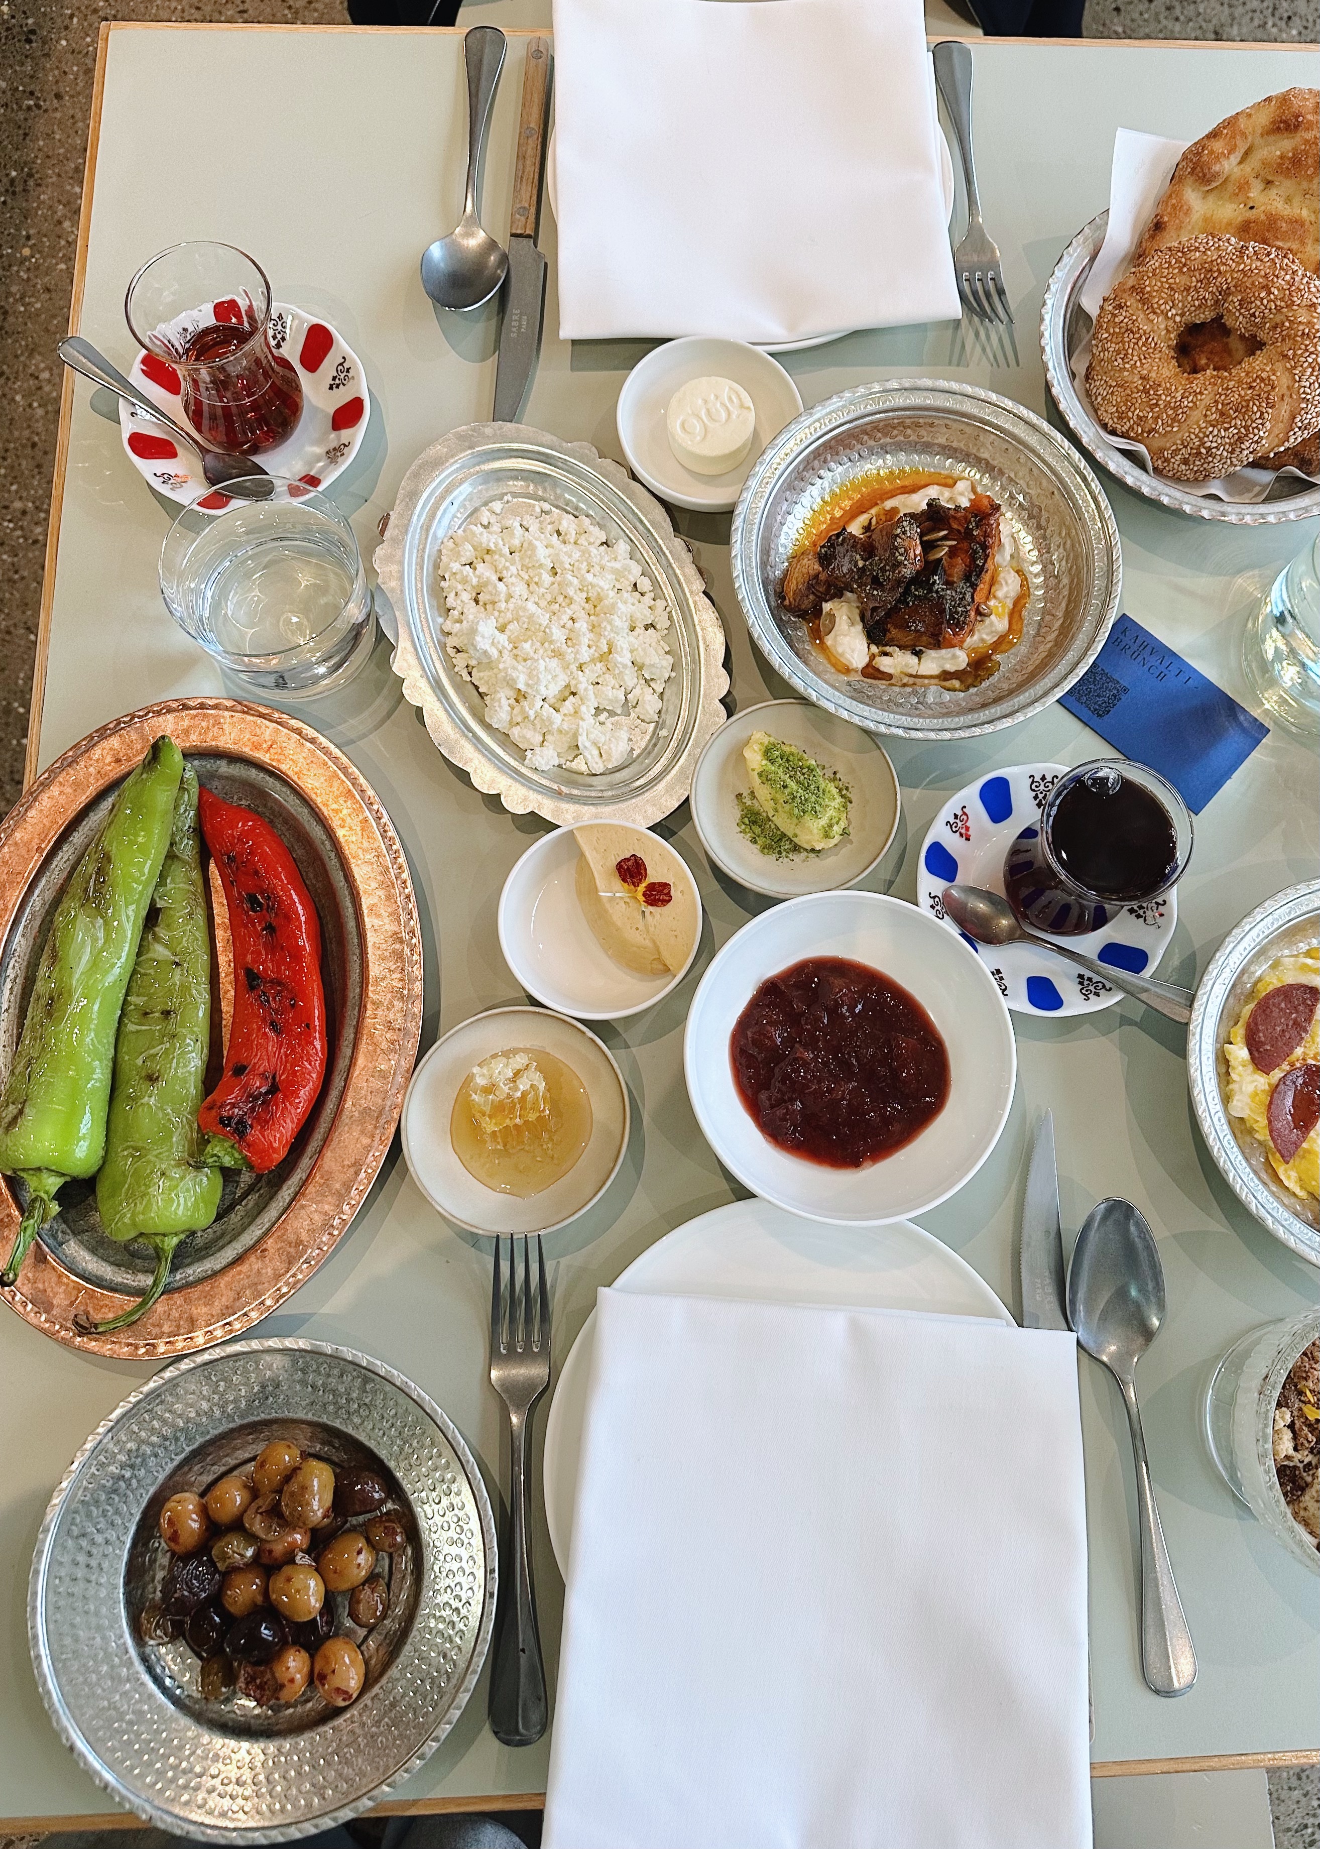
[{"label": "crumbled white cheese heaped in the oval silver dish", "polygon": [[440,545],[449,658],[538,771],[640,753],[673,671],[669,612],[623,540],[545,501],[492,501]]}]

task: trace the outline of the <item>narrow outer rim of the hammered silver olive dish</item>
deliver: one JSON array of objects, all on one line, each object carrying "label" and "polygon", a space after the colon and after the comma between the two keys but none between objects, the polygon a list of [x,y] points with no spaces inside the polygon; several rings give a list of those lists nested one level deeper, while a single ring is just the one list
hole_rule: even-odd
[{"label": "narrow outer rim of the hammered silver olive dish", "polygon": [[[372,1786],[370,1790],[361,1792],[361,1794],[353,1795],[351,1799],[346,1799],[342,1805],[336,1805],[333,1810],[325,1810],[325,1812],[320,1812],[316,1816],[309,1816],[309,1818],[303,1818],[303,1819],[298,1819],[298,1821],[292,1821],[292,1823],[283,1823],[283,1825],[272,1821],[272,1823],[268,1823],[268,1825],[264,1825],[261,1829],[224,1829],[224,1827],[203,1823],[203,1821],[200,1821],[200,1819],[196,1819],[192,1816],[185,1816],[185,1814],[181,1814],[177,1810],[168,1810],[168,1808],[165,1808],[161,1805],[155,1805],[152,1799],[148,1799],[142,1794],[135,1792],[122,1779],[118,1779],[98,1758],[96,1751],[89,1745],[89,1742],[83,1738],[83,1734],[78,1729],[78,1725],[74,1723],[74,1720],[65,1710],[65,1701],[63,1701],[63,1696],[61,1696],[61,1690],[59,1690],[59,1683],[57,1683],[57,1677],[55,1677],[55,1670],[54,1670],[54,1664],[50,1662],[50,1653],[48,1653],[48,1647],[46,1647],[46,1623],[44,1623],[44,1610],[43,1610],[43,1605],[44,1605],[43,1594],[44,1594],[46,1577],[48,1577],[48,1570],[50,1570],[50,1549],[52,1549],[52,1540],[54,1540],[55,1525],[57,1525],[59,1516],[63,1512],[65,1500],[68,1496],[70,1487],[74,1485],[74,1481],[78,1479],[78,1476],[81,1474],[81,1470],[85,1468],[85,1464],[92,1457],[92,1453],[98,1451],[98,1448],[109,1439],[109,1435],[115,1431],[115,1427],[118,1427],[120,1422],[129,1414],[129,1411],[133,1407],[141,1405],[142,1400],[146,1400],[146,1398],[150,1398],[153,1394],[168,1390],[172,1383],[176,1383],[177,1379],[185,1378],[187,1374],[190,1374],[196,1368],[209,1366],[209,1365],[218,1363],[218,1361],[229,1361],[235,1355],[246,1355],[246,1353],[312,1353],[312,1355],[325,1355],[325,1357],[329,1357],[333,1361],[342,1361],[342,1363],[346,1363],[349,1366],[362,1368],[368,1374],[375,1374],[383,1381],[386,1381],[390,1387],[394,1387],[399,1392],[407,1394],[407,1398],[410,1398],[422,1409],[422,1413],[425,1413],[425,1416],[433,1422],[433,1426],[440,1431],[440,1435],[444,1437],[444,1440],[447,1442],[447,1446],[455,1453],[455,1457],[458,1461],[458,1466],[460,1466],[460,1472],[462,1472],[462,1476],[464,1476],[464,1479],[468,1483],[468,1488],[471,1492],[473,1503],[477,1507],[477,1518],[479,1518],[479,1525],[481,1525],[481,1540],[483,1540],[483,1551],[484,1551],[484,1586],[483,1586],[483,1594],[481,1594],[481,1616],[479,1616],[479,1622],[477,1622],[477,1631],[475,1631],[475,1638],[473,1638],[471,1657],[468,1660],[468,1668],[464,1670],[462,1677],[449,1690],[447,1705],[442,1708],[442,1712],[440,1712],[440,1716],[436,1720],[436,1725],[416,1745],[416,1749],[410,1753],[410,1757],[407,1758],[405,1764],[399,1764],[396,1768],[396,1771],[392,1771],[390,1777],[383,1784]],[[385,1463],[392,1464],[392,1461],[388,1457],[385,1459]],[[129,1537],[131,1537],[133,1527],[139,1522],[139,1516],[141,1516],[141,1511],[133,1509],[131,1511],[131,1518],[129,1518],[129,1527],[128,1527]],[[436,1562],[429,1559],[427,1561],[427,1583],[431,1581],[431,1575],[434,1572],[436,1572]],[[120,1573],[122,1573],[122,1564],[120,1564]],[[436,1577],[440,1577],[440,1575],[436,1575]],[[46,1707],[50,1721],[55,1727],[55,1733],[65,1742],[65,1745],[70,1749],[70,1753],[78,1760],[78,1764],[89,1773],[89,1777],[100,1786],[100,1790],[107,1792],[111,1797],[115,1797],[118,1803],[122,1803],[128,1808],[131,1808],[137,1816],[144,1818],[148,1823],[155,1825],[157,1829],[170,1831],[172,1834],[183,1832],[187,1836],[192,1836],[194,1840],[214,1842],[214,1843],[275,1843],[275,1842],[288,1842],[288,1840],[298,1838],[298,1836],[311,1836],[311,1834],[316,1834],[320,1831],[333,1829],[335,1825],[346,1823],[349,1818],[359,1816],[362,1810],[366,1810],[372,1805],[379,1803],[379,1799],[385,1797],[388,1792],[396,1790],[396,1786],[399,1786],[407,1777],[410,1777],[418,1769],[418,1766],[422,1766],[434,1753],[434,1749],[440,1745],[440,1742],[446,1738],[446,1734],[458,1721],[458,1716],[464,1712],[464,1708],[466,1708],[466,1705],[468,1705],[468,1701],[471,1697],[471,1692],[477,1686],[477,1681],[481,1677],[481,1671],[483,1671],[483,1666],[484,1666],[484,1660],[486,1660],[486,1653],[490,1649],[490,1636],[492,1636],[492,1629],[494,1629],[494,1622],[495,1622],[497,1577],[499,1577],[499,1568],[497,1568],[495,1520],[494,1520],[494,1511],[490,1507],[490,1496],[486,1494],[484,1479],[481,1476],[481,1470],[477,1468],[477,1463],[475,1463],[475,1459],[473,1459],[473,1455],[471,1455],[471,1451],[470,1451],[470,1448],[468,1448],[462,1433],[453,1424],[453,1420],[434,1403],[434,1400],[431,1400],[429,1394],[425,1394],[420,1387],[416,1387],[405,1374],[399,1374],[396,1368],[390,1368],[386,1363],[377,1361],[373,1355],[366,1355],[366,1353],[362,1353],[361,1350],[355,1350],[355,1348],[342,1348],[342,1346],[338,1346],[335,1342],[312,1342],[312,1341],[303,1341],[303,1339],[298,1339],[298,1337],[272,1337],[272,1339],[266,1339],[266,1341],[233,1342],[233,1344],[226,1346],[224,1350],[211,1350],[209,1353],[189,1355],[187,1359],[176,1361],[172,1366],[163,1368],[150,1381],[146,1381],[142,1387],[137,1387],[126,1400],[122,1400],[115,1407],[115,1411],[109,1413],[100,1422],[100,1426],[91,1433],[91,1437],[79,1446],[78,1455],[70,1463],[68,1470],[65,1472],[65,1476],[61,1477],[55,1492],[50,1498],[50,1503],[48,1503],[46,1512],[44,1512],[43,1522],[41,1522],[41,1529],[37,1533],[37,1546],[35,1546],[35,1551],[33,1551],[31,1570],[30,1570],[30,1575],[28,1575],[28,1646],[30,1646],[30,1651],[31,1651],[31,1664],[33,1664],[33,1673],[35,1673],[35,1679],[37,1679],[37,1688],[41,1692],[41,1699],[43,1699],[43,1703]],[[394,1670],[394,1664],[390,1666],[390,1670]],[[386,1671],[386,1675],[390,1671]],[[353,1712],[353,1708],[346,1708],[344,1710],[346,1716],[351,1714],[351,1712]],[[198,1725],[198,1723],[190,1723],[190,1725]],[[324,1725],[325,1727],[333,1727],[335,1720],[331,1720],[331,1721],[327,1721]],[[318,1729],[318,1733],[322,1734],[322,1738],[325,1738],[325,1744],[329,1747],[331,1742],[325,1736],[324,1729]],[[294,1738],[303,1738],[303,1736],[296,1734]]]}]

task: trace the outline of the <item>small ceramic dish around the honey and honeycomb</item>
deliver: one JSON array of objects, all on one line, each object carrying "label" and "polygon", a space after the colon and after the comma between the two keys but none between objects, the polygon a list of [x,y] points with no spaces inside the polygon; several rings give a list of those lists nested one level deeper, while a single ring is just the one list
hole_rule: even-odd
[{"label": "small ceramic dish around the honey and honeycomb", "polygon": [[[592,1100],[592,1137],[566,1176],[519,1200],[468,1174],[449,1117],[468,1072],[508,1047],[544,1047],[569,1065]],[[614,1056],[588,1028],[544,1008],[492,1008],[442,1035],[418,1061],[403,1100],[403,1159],[431,1206],[473,1233],[549,1233],[586,1213],[629,1146],[629,1093]]]}]

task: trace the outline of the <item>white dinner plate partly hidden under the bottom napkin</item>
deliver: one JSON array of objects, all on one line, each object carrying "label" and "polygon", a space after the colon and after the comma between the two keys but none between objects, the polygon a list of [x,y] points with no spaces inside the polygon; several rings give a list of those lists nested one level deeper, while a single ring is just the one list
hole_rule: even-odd
[{"label": "white dinner plate partly hidden under the bottom napkin", "polygon": [[[832,1304],[913,1309],[937,1316],[1013,1322],[991,1287],[934,1233],[910,1220],[828,1226],[765,1200],[734,1200],[677,1226],[629,1265],[616,1291],[642,1296],[719,1296],[747,1304]],[[568,1575],[573,1501],[582,1455],[595,1311],[568,1352],[545,1422],[545,1522]]]}]

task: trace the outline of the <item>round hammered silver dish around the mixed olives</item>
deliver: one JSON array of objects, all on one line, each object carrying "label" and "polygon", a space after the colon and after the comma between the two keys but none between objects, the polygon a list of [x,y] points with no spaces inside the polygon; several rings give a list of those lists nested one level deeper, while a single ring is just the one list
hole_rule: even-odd
[{"label": "round hammered silver dish around the mixed olives", "polygon": [[[275,1435],[383,1470],[412,1533],[348,1708],[205,1703],[187,1646],[139,1638],[166,1496]],[[37,1686],[78,1762],[157,1829],[216,1843],[329,1829],[414,1771],[471,1696],[494,1610],[490,1498],[455,1426],[370,1355],[294,1339],[189,1357],[129,1394],[55,1490],[28,1585]]]}]

